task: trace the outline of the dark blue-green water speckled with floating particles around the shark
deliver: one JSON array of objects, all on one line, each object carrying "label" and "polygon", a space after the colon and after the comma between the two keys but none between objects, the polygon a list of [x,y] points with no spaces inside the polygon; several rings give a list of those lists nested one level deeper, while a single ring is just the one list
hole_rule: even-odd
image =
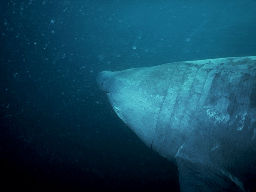
[{"label": "dark blue-green water speckled with floating particles around the shark", "polygon": [[3,0],[0,45],[1,186],[179,191],[96,75],[256,56],[256,1]]}]

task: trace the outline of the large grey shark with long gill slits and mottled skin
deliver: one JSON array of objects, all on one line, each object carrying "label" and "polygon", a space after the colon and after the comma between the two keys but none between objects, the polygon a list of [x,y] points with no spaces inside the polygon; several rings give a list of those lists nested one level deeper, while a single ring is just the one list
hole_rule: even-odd
[{"label": "large grey shark with long gill slits and mottled skin", "polygon": [[178,166],[181,191],[256,188],[256,57],[97,76],[116,114]]}]

